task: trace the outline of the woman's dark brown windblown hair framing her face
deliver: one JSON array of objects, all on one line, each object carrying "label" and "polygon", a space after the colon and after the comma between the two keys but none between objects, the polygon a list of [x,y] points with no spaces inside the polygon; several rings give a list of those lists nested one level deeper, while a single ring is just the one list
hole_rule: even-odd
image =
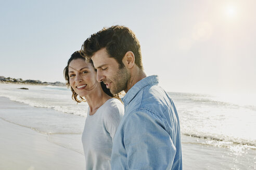
[{"label": "woman's dark brown windblown hair framing her face", "polygon": [[[64,74],[64,77],[65,77],[65,79],[66,79],[66,86],[67,86],[68,88],[70,87],[70,89],[71,89],[71,91],[72,91],[72,99],[73,99],[74,101],[78,102],[78,103],[81,103],[82,101],[83,101],[83,102],[86,102],[85,98],[83,98],[83,97],[79,96],[77,93],[75,93],[74,89],[70,86],[70,82],[69,82],[69,64],[70,64],[70,62],[71,62],[72,60],[75,60],[75,59],[83,59],[83,60],[85,60],[85,58],[81,55],[80,51],[75,51],[75,52],[71,55],[71,57],[70,57],[70,59],[69,59],[69,61],[68,61],[67,66],[64,68],[63,74]],[[85,61],[86,61],[87,63],[91,64],[92,66],[94,66],[92,60],[87,59],[87,60],[85,60]],[[95,71],[96,71],[96,69],[95,69]],[[119,95],[118,95],[118,94],[117,94],[117,95],[113,95],[113,94],[110,92],[110,90],[107,89],[106,84],[104,84],[104,82],[100,82],[100,85],[101,85],[101,88],[103,89],[103,91],[104,91],[107,95],[109,95],[109,96],[111,96],[111,97],[114,97],[114,98],[118,98],[118,99],[120,100]],[[77,98],[78,96],[79,96],[80,100]]]}]

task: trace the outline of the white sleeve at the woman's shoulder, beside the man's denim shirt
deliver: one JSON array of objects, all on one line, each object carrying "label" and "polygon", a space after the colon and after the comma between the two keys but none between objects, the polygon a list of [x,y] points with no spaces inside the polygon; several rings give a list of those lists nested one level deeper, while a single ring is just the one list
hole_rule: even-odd
[{"label": "white sleeve at the woman's shoulder, beside the man's denim shirt", "polygon": [[105,128],[113,140],[114,135],[118,129],[118,125],[124,115],[123,104],[121,102],[114,104],[112,103],[108,106],[108,108],[106,108],[104,115]]}]

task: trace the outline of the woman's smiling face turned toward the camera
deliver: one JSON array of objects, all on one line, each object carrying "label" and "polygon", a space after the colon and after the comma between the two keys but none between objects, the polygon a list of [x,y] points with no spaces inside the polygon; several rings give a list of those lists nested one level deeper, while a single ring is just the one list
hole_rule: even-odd
[{"label": "woman's smiling face turned toward the camera", "polygon": [[92,64],[88,64],[83,59],[72,60],[69,64],[69,82],[75,93],[84,97],[92,92],[96,87],[100,87],[97,82]]}]

